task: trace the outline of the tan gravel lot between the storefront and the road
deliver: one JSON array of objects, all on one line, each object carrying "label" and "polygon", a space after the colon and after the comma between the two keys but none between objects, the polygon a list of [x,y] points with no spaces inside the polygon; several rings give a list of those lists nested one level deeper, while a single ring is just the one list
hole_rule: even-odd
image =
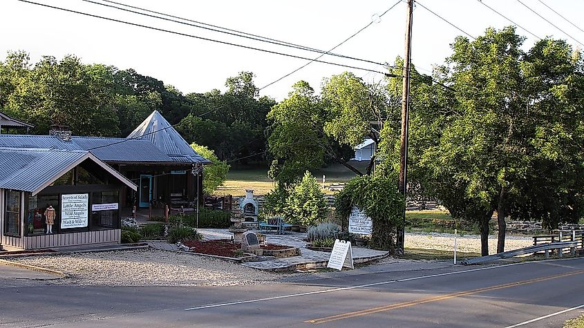
[{"label": "tan gravel lot between the storefront and the road", "polygon": [[55,282],[66,284],[236,286],[268,284],[283,277],[223,260],[153,250],[30,256],[12,261],[68,273],[73,279]]}]

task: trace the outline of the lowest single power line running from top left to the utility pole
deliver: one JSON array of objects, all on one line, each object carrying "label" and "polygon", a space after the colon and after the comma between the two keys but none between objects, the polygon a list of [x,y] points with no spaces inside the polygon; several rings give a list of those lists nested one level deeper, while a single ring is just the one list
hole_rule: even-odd
[{"label": "lowest single power line running from top left to the utility pole", "polygon": [[[176,31],[172,31],[172,30],[165,30],[164,28],[155,28],[153,26],[147,26],[147,25],[142,25],[142,24],[138,24],[138,23],[132,23],[132,22],[129,22],[129,21],[122,21],[120,19],[113,19],[113,18],[110,18],[110,17],[103,17],[103,16],[99,16],[99,15],[88,14],[87,12],[79,12],[77,10],[71,10],[71,9],[66,9],[66,8],[61,8],[61,7],[50,6],[50,5],[47,5],[47,4],[44,4],[44,3],[37,3],[37,2],[33,2],[33,1],[28,1],[28,0],[18,0],[18,1],[25,2],[25,3],[30,3],[30,4],[33,4],[33,5],[42,6],[42,7],[46,7],[46,8],[53,8],[53,9],[57,9],[57,10],[62,10],[62,11],[66,11],[66,12],[73,12],[74,14],[84,15],[84,16],[88,16],[88,17],[94,17],[94,18],[104,19],[106,21],[115,21],[117,23],[123,23],[123,24],[126,24],[126,25],[138,26],[140,28],[147,28],[149,30],[157,30],[157,31],[160,31],[160,32],[171,33],[171,34],[174,34],[174,35],[181,35],[183,37],[192,37],[194,39],[211,41],[211,42],[215,42],[215,43],[218,43],[218,44],[225,44],[227,46],[235,46],[235,47],[239,47],[239,48],[245,48],[245,49],[250,49],[250,50],[257,50],[257,51],[261,51],[261,52],[271,53],[271,54],[274,54],[274,55],[281,55],[281,56],[292,57],[292,58],[297,58],[297,59],[313,60],[313,59],[310,59],[308,57],[296,56],[296,55],[291,55],[291,54],[287,54],[287,53],[284,53],[284,52],[277,52],[277,51],[266,50],[266,49],[262,49],[262,48],[255,48],[255,47],[252,47],[252,46],[245,46],[243,44],[234,44],[234,43],[231,43],[231,42],[220,41],[220,40],[216,40],[216,39],[209,39],[209,38],[206,38],[206,37],[198,37],[196,35],[189,35],[187,33],[176,32]],[[384,74],[382,72],[379,72],[378,70],[371,70],[369,68],[361,68],[361,67],[357,67],[357,66],[337,64],[337,63],[332,63],[330,61],[323,61],[323,60],[314,60],[314,61],[317,61],[317,62],[322,63],[322,64],[329,64],[329,65],[340,66],[340,67],[344,67],[344,68],[352,68],[352,69],[355,69],[355,70],[365,70],[365,71],[370,71],[370,72],[373,72],[373,73]]]}]

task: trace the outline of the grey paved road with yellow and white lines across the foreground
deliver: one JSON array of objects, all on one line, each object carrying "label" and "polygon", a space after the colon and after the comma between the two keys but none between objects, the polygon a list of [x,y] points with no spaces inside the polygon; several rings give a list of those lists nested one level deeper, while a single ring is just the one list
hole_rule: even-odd
[{"label": "grey paved road with yellow and white lines across the foreground", "polygon": [[[0,327],[561,327],[584,259],[363,270],[247,287],[0,287]],[[2,286],[2,282],[0,282]]]}]

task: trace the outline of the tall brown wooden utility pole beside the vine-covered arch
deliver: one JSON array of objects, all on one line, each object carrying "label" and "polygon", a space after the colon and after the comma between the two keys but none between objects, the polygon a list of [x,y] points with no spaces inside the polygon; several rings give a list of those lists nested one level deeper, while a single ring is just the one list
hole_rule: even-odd
[{"label": "tall brown wooden utility pole beside the vine-covered arch", "polygon": [[[409,108],[410,108],[410,55],[412,52],[412,13],[413,0],[408,1],[408,18],[406,19],[406,53],[404,55],[404,86],[402,90],[402,134],[399,138],[399,193],[406,198],[408,185],[408,126],[409,126]],[[404,237],[406,235],[406,204],[404,203],[403,224],[397,229],[397,249],[404,252]]]}]

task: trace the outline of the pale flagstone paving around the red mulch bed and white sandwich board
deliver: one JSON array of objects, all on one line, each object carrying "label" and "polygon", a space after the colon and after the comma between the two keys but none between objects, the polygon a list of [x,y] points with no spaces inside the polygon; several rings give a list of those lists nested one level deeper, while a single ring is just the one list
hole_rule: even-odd
[{"label": "pale flagstone paving around the red mulch bed and white sandwich board", "polygon": [[[198,229],[205,239],[231,239],[232,233],[227,229]],[[326,262],[330,253],[312,251],[306,248],[307,242],[303,239],[306,233],[288,232],[285,235],[276,233],[265,233],[267,244],[280,244],[285,246],[299,247],[302,254],[290,258],[274,258],[273,256],[261,256],[259,261],[242,263],[246,267],[271,271],[283,271],[289,269],[310,269],[315,267],[326,267]],[[383,258],[386,251],[376,251],[364,247],[352,247],[353,260],[355,263],[365,262],[375,258]]]}]

